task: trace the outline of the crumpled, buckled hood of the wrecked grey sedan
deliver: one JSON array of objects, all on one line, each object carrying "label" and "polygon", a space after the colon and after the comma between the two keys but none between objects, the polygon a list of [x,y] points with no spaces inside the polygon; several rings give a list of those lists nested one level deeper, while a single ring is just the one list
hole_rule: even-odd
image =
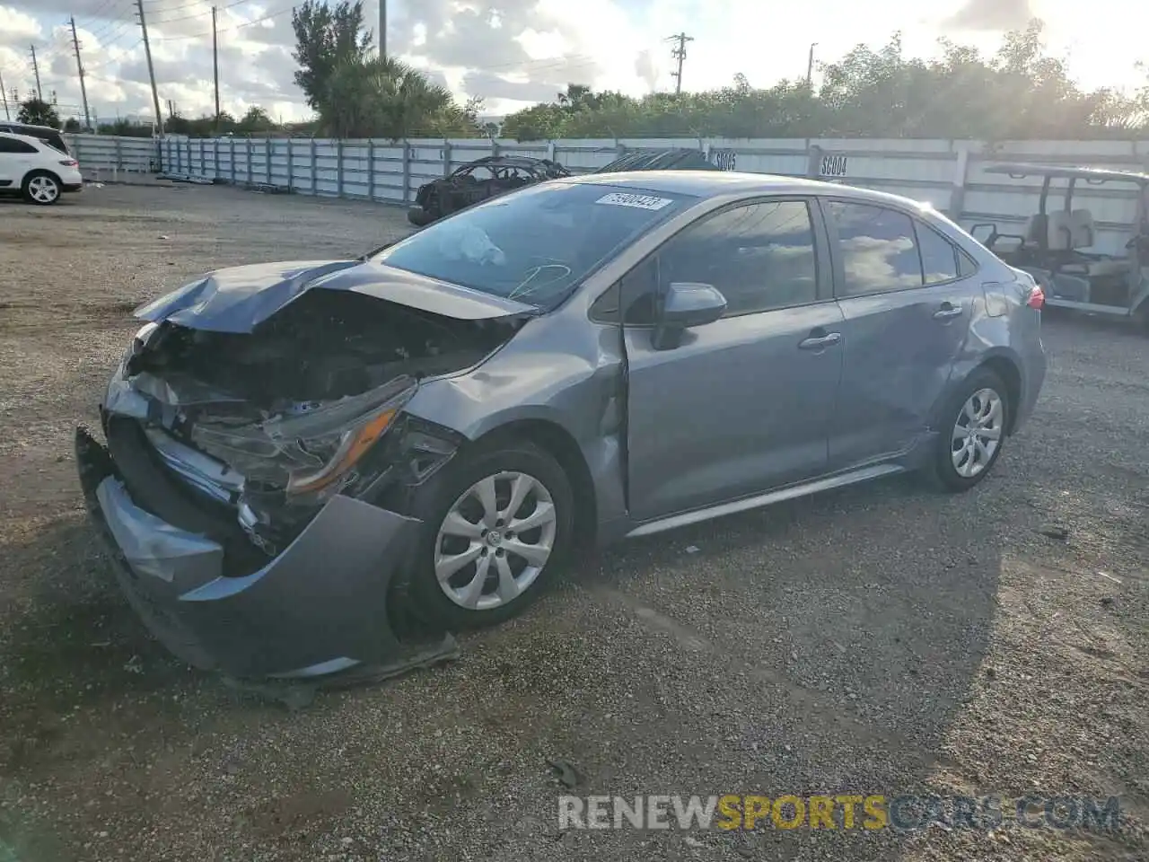
[{"label": "crumpled, buckled hood of the wrecked grey sedan", "polygon": [[460,321],[537,313],[534,306],[378,263],[291,261],[209,272],[140,306],[134,315],[211,332],[250,332],[311,290],[353,291]]}]

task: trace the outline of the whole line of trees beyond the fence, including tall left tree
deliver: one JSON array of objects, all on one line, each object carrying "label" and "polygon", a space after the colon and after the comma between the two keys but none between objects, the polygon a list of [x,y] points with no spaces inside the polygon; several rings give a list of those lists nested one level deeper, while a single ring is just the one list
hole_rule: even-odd
[{"label": "whole line of trees beyond the fence, including tall left tree", "polygon": [[[304,0],[292,13],[295,83],[315,111],[308,123],[279,125],[257,107],[165,122],[193,137],[316,134],[333,138],[464,138],[495,133],[478,122],[483,100],[458,103],[406,63],[378,57],[362,0]],[[1141,69],[1146,67],[1141,64]],[[858,45],[819,68],[819,84],[782,80],[641,98],[569,84],[555,101],[508,116],[500,131],[516,140],[557,138],[967,138],[979,140],[1127,138],[1149,132],[1149,77],[1133,93],[1085,90],[1042,41],[1042,24],[1005,36],[985,56],[941,41],[936,59],[908,57],[901,37],[873,51]],[[21,116],[59,126],[52,106],[25,102]],[[55,122],[53,122],[53,120]],[[69,121],[75,123],[75,121]],[[78,123],[75,123],[78,126]],[[149,136],[126,122],[101,132]]]}]

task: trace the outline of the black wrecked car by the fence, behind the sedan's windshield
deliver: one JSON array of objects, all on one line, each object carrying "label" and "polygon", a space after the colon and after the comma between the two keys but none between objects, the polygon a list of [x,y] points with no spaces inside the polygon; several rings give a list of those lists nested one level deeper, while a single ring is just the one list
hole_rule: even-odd
[{"label": "black wrecked car by the fence, behind the sedan's windshield", "polygon": [[549,159],[488,155],[464,164],[450,176],[419,186],[415,194],[415,206],[408,210],[407,218],[422,228],[487,198],[570,175],[566,168]]}]

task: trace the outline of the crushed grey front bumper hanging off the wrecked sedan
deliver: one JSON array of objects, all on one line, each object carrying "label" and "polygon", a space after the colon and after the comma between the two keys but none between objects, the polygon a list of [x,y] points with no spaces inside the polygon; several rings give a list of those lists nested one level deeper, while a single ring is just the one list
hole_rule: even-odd
[{"label": "crushed grey front bumper hanging off the wrecked sedan", "polygon": [[238,678],[373,677],[450,659],[454,638],[401,642],[388,619],[392,578],[407,570],[418,521],[334,497],[257,571],[223,575],[224,548],[137,506],[108,451],[76,430],[88,510],[116,578],[172,653]]}]

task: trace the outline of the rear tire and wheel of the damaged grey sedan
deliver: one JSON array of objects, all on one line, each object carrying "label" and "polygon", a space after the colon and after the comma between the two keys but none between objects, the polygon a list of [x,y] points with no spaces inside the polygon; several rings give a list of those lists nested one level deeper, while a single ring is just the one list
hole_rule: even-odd
[{"label": "rear tire and wheel of the damaged grey sedan", "polygon": [[[969,425],[971,414],[982,417],[984,432],[961,437],[962,423]],[[1012,416],[1009,390],[996,374],[979,368],[966,377],[941,413],[938,441],[927,469],[934,484],[942,491],[959,492],[969,491],[986,478],[1001,456],[1005,429]],[[989,432],[997,436],[992,437]]]}]

